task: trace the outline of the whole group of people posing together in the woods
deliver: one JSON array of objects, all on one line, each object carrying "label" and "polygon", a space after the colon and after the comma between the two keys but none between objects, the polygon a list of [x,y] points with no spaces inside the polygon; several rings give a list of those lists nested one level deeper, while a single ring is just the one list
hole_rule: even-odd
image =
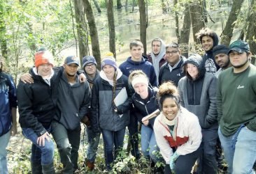
[{"label": "whole group of people posing together in the woods", "polygon": [[[1,58],[0,173],[8,173],[6,146],[17,132],[17,106],[22,134],[32,142],[32,173],[55,173],[50,134],[62,172],[79,171],[80,122],[87,125],[90,171],[101,134],[106,169],[113,169],[128,127],[131,155],[140,159],[142,153],[154,173],[190,173],[193,166],[195,173],[218,173],[216,147],[223,149],[228,173],[255,173],[256,68],[249,45],[243,40],[218,45],[218,35],[207,28],[197,37],[204,56],[185,58],[176,42],[164,45],[159,38],[143,56],[142,42],[134,40],[125,62],[118,67],[108,53],[101,70],[93,56],[83,58],[82,71],[76,56],[54,67],[50,52],[41,49],[34,68],[20,78],[17,96]],[[158,109],[158,116],[147,117]],[[157,167],[157,161],[166,165]]]}]

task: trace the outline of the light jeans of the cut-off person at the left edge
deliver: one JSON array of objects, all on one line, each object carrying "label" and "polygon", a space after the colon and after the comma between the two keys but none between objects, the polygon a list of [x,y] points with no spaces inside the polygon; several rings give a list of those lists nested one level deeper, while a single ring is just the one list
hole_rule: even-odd
[{"label": "light jeans of the cut-off person at the left edge", "polygon": [[9,143],[9,140],[10,140],[10,131],[0,136],[0,174],[8,173],[6,147]]}]

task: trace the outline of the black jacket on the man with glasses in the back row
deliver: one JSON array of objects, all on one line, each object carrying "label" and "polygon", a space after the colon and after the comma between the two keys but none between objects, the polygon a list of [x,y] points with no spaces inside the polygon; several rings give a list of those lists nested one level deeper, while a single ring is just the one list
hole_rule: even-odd
[{"label": "black jacket on the man with glasses in the back row", "polygon": [[159,70],[159,86],[164,83],[164,81],[173,81],[173,83],[178,86],[178,81],[185,76],[183,72],[183,63],[186,60],[184,56],[180,56],[180,63],[171,72],[169,69],[169,63],[166,62]]}]

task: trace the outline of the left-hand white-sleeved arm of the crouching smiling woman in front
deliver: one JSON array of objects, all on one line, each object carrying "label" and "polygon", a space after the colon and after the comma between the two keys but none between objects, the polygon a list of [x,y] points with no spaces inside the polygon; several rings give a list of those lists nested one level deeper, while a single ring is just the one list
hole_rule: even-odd
[{"label": "left-hand white-sleeved arm of the crouching smiling woman in front", "polygon": [[157,141],[157,146],[162,154],[162,157],[164,157],[164,161],[166,162],[166,164],[169,164],[171,155],[173,155],[173,150],[171,149],[166,139],[164,139],[162,129],[164,129],[164,127],[162,127],[162,125],[160,125],[159,122],[155,122],[155,140]]}]

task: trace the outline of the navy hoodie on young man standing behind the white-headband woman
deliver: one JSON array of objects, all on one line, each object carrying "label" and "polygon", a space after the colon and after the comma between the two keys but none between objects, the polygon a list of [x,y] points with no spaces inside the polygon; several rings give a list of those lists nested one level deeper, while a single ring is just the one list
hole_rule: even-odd
[{"label": "navy hoodie on young man standing behind the white-headband woman", "polygon": [[155,70],[152,63],[146,61],[147,58],[143,56],[140,62],[132,61],[131,57],[127,58],[127,61],[123,62],[119,68],[122,71],[122,74],[129,77],[134,70],[142,70],[147,74],[150,84],[152,86],[157,86],[157,76],[155,75]]}]

